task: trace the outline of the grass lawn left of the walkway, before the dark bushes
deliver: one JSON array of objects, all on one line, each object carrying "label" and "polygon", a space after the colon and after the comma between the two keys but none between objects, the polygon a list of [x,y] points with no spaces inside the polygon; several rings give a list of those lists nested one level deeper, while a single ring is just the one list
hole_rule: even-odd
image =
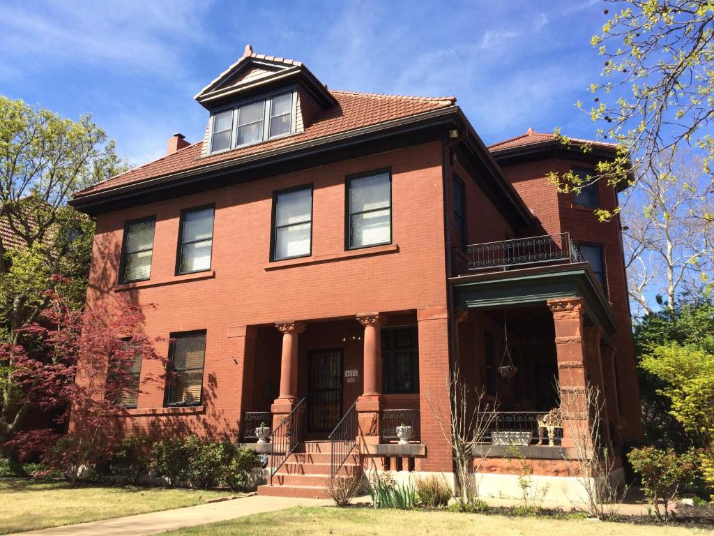
[{"label": "grass lawn left of the walkway, before the dark bushes", "polygon": [[0,479],[0,534],[200,505],[231,492]]}]

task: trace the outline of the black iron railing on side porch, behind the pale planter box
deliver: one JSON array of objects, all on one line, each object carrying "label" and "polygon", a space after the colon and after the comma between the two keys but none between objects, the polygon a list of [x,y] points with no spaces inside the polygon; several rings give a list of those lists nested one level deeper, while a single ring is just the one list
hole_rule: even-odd
[{"label": "black iron railing on side porch, behind the pale planter box", "polygon": [[555,445],[560,445],[563,438],[563,428],[555,427],[553,437],[548,437],[548,430],[540,427],[540,420],[548,412],[496,412],[483,418],[491,421],[483,442],[492,445],[549,445],[552,439]]}]

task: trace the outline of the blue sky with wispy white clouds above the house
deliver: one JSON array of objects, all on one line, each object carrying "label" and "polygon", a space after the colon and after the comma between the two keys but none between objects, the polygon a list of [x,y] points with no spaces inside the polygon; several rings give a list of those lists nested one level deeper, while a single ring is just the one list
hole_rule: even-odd
[{"label": "blue sky with wispy white clouds above the house", "polygon": [[303,61],[333,89],[456,95],[486,143],[529,126],[593,137],[575,109],[602,59],[602,0],[13,1],[0,4],[0,94],[91,112],[143,164],[208,114],[193,95],[246,44]]}]

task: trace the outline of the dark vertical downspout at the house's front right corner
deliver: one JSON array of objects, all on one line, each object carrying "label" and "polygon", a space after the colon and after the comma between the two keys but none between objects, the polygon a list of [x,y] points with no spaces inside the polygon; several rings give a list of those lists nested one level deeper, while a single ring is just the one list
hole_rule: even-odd
[{"label": "dark vertical downspout at the house's front right corner", "polygon": [[448,326],[448,356],[449,374],[456,369],[456,311],[454,307],[453,287],[449,284],[448,278],[452,276],[453,252],[451,251],[451,157],[453,148],[462,141],[462,136],[456,129],[449,129],[448,137],[443,142],[443,209],[444,209],[444,246],[446,249],[446,314]]}]

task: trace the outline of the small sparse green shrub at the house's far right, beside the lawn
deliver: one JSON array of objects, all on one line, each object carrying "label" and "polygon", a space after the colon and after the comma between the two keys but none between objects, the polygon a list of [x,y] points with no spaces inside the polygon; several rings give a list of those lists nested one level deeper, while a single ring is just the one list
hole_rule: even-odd
[{"label": "small sparse green shrub at the house's far right, beside the lawn", "polygon": [[[645,496],[655,508],[658,519],[668,522],[670,502],[677,496],[680,486],[694,480],[697,468],[695,452],[678,455],[671,449],[643,447],[630,451],[628,460],[642,478]],[[660,512],[660,501],[663,512]]]}]

